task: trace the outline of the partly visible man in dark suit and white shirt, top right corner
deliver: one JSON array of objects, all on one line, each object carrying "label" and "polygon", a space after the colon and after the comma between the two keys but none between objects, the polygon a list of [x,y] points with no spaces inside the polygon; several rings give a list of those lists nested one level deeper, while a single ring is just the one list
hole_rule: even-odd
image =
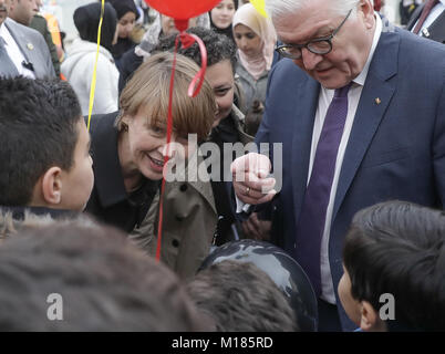
[{"label": "partly visible man in dark suit and white shirt, top right corner", "polygon": [[406,25],[415,34],[445,43],[445,0],[426,0]]}]

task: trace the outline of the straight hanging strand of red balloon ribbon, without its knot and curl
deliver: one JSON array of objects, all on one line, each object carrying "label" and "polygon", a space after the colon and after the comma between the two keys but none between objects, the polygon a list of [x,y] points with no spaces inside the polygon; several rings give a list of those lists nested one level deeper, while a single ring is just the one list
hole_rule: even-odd
[{"label": "straight hanging strand of red balloon ribbon, without its knot and curl", "polygon": [[[173,54],[173,65],[172,65],[172,76],[170,76],[170,87],[168,93],[168,117],[167,117],[167,152],[164,157],[164,169],[167,166],[170,150],[170,140],[172,140],[172,131],[173,131],[173,114],[172,114],[172,103],[173,103],[173,85],[175,83],[175,69],[176,69],[176,53],[179,43],[179,34],[175,40],[175,50]],[[163,219],[164,219],[164,192],[165,192],[165,177],[163,174],[163,181],[161,185],[161,197],[159,197],[159,220],[157,225],[157,244],[156,244],[156,260],[161,260],[161,244],[162,244],[162,235],[163,235]]]}]

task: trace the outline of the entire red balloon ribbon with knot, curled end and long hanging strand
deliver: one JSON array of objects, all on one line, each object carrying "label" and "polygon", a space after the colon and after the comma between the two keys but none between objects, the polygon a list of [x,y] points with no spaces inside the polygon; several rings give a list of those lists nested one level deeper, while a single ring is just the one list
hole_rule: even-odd
[{"label": "entire red balloon ribbon with knot, curled end and long hanging strand", "polygon": [[[175,50],[173,56],[173,67],[172,67],[172,76],[170,76],[170,87],[169,87],[169,95],[168,95],[168,117],[167,117],[167,154],[164,157],[164,171],[167,166],[169,159],[169,149],[170,149],[170,142],[172,142],[172,132],[173,132],[173,115],[172,115],[172,103],[173,103],[173,90],[175,83],[175,69],[176,69],[176,54],[179,40],[183,43],[183,48],[187,49],[193,45],[195,42],[199,45],[200,51],[200,59],[201,59],[201,66],[195,77],[192,80],[190,85],[188,86],[187,94],[189,97],[196,97],[199,93],[200,87],[204,83],[204,76],[206,74],[207,69],[207,50],[206,45],[204,45],[203,40],[195,35],[185,32],[187,29],[188,20],[175,20],[176,28],[182,31],[175,40]],[[163,174],[164,175],[164,174]],[[162,243],[162,232],[163,232],[163,206],[164,206],[164,192],[165,192],[165,178],[163,177],[163,181],[161,185],[161,198],[159,198],[159,221],[157,225],[157,244],[156,244],[156,260],[161,260],[161,243]]]}]

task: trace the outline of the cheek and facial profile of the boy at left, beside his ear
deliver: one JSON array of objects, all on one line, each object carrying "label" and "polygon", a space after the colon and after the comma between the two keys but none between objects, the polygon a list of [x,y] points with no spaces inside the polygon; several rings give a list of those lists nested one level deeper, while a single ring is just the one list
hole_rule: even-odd
[{"label": "cheek and facial profile of the boy at left, beside his ear", "polygon": [[93,160],[90,156],[90,134],[83,117],[77,123],[77,143],[74,164],[69,171],[62,170],[62,199],[60,208],[82,211],[90,199],[94,185]]}]

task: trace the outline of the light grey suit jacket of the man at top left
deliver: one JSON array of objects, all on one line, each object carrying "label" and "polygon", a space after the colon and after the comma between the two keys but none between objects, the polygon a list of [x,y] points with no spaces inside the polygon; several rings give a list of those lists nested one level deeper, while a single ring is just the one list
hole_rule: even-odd
[{"label": "light grey suit jacket of the man at top left", "polygon": [[[2,25],[8,28],[24,59],[32,63],[37,79],[55,77],[51,54],[42,34],[9,18]],[[0,75],[2,73],[0,65]]]}]

